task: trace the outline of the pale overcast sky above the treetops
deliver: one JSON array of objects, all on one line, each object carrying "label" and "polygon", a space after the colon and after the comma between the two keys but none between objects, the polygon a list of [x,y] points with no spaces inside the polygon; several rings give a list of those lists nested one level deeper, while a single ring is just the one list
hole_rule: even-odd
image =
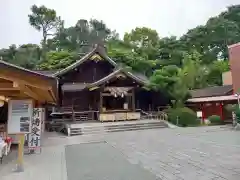
[{"label": "pale overcast sky above the treetops", "polygon": [[164,37],[181,36],[237,3],[240,0],[0,0],[0,48],[40,42],[41,33],[28,24],[33,4],[55,9],[67,27],[78,19],[96,18],[121,36],[147,26]]}]

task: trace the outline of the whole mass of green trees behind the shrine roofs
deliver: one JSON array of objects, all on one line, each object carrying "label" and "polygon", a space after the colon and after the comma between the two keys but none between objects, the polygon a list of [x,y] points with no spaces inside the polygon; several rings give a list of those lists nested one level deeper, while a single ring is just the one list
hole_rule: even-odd
[{"label": "whole mass of green trees behind the shrine roofs", "polygon": [[31,7],[29,23],[42,32],[38,44],[0,49],[4,61],[28,69],[62,69],[75,62],[96,43],[104,43],[117,63],[141,72],[151,88],[183,101],[189,89],[222,84],[229,70],[227,45],[240,42],[240,5],[228,7],[206,24],[177,38],[161,37],[149,27],[136,27],[123,39],[102,20],[79,19],[65,27],[54,9]]}]

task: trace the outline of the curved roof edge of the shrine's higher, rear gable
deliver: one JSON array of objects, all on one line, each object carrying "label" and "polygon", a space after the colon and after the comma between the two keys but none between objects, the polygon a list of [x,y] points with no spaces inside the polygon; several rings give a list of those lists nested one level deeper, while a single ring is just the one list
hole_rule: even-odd
[{"label": "curved roof edge of the shrine's higher, rear gable", "polygon": [[74,68],[76,68],[77,66],[79,66],[80,64],[82,64],[83,62],[85,62],[86,60],[88,60],[92,55],[94,55],[94,53],[99,53],[100,56],[102,56],[104,59],[106,59],[107,61],[109,61],[114,67],[117,66],[117,63],[115,61],[113,61],[105,52],[103,52],[102,50],[100,50],[99,45],[96,45],[92,51],[90,51],[89,53],[87,53],[86,55],[84,55],[81,59],[77,60],[75,63],[69,65],[68,67],[56,72],[53,74],[53,76],[59,76],[62,75],[66,72],[68,72],[69,70],[72,70]]}]

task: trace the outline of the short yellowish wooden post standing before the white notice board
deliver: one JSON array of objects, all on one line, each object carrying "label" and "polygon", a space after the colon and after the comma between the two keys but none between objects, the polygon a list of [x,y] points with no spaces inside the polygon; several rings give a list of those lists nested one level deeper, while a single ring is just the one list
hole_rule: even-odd
[{"label": "short yellowish wooden post standing before the white notice board", "polygon": [[18,159],[16,172],[23,172],[24,134],[18,134]]}]

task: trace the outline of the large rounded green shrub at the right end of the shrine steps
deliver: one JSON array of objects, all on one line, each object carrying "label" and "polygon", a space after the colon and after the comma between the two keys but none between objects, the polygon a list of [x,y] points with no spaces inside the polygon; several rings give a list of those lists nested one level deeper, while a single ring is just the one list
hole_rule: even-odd
[{"label": "large rounded green shrub at the right end of the shrine steps", "polygon": [[167,112],[168,119],[173,124],[177,125],[178,123],[178,125],[182,127],[200,124],[200,121],[197,119],[196,113],[187,107],[168,109]]}]

